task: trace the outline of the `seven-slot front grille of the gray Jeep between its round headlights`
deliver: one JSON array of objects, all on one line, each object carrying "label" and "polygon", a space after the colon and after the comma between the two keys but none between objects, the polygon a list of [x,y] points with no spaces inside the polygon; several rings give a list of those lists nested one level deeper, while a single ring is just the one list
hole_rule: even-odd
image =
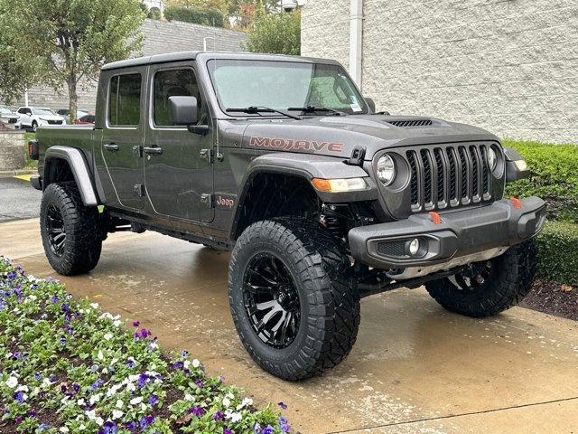
[{"label": "seven-slot front grille of the gray Jeep between its round headlights", "polygon": [[443,210],[491,198],[488,146],[409,149],[412,212]]}]

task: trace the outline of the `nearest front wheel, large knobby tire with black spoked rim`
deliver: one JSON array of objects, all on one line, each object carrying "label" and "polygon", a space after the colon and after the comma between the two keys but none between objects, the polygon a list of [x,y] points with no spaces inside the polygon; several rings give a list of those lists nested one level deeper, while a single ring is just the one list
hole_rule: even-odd
[{"label": "nearest front wheel, large knobby tire with black spoked rim", "polygon": [[313,222],[256,222],[242,233],[228,297],[241,342],[259,366],[301,380],[350,353],[359,328],[350,268],[340,241]]}]

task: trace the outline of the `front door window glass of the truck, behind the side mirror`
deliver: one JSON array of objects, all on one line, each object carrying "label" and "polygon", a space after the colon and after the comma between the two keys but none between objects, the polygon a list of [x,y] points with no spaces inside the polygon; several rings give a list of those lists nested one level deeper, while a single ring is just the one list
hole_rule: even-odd
[{"label": "front door window glass of the truck, behind the side mirror", "polygon": [[170,97],[195,97],[199,123],[206,123],[201,110],[199,84],[191,68],[158,71],[154,75],[153,118],[156,127],[172,127],[169,119]]}]

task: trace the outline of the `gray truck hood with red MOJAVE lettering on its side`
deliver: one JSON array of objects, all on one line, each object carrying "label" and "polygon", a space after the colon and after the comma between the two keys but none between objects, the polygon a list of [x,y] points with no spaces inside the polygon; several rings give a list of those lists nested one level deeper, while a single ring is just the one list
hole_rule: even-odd
[{"label": "gray truck hood with red MOJAVE lettering on its side", "polygon": [[479,127],[424,117],[375,114],[244,122],[248,122],[243,134],[243,146],[247,148],[347,158],[355,147],[362,146],[366,160],[396,146],[499,141]]}]

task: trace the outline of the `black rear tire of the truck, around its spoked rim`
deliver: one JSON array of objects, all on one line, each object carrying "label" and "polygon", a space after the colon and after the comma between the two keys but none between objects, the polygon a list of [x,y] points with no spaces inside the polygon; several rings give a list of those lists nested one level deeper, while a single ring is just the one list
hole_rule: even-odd
[{"label": "black rear tire of the truck, around its spoked rim", "polygon": [[[51,204],[61,212],[66,230],[63,254],[58,256],[50,247],[47,212]],[[94,269],[100,258],[103,232],[96,207],[82,203],[74,182],[50,184],[42,194],[40,208],[42,245],[51,267],[61,275],[73,276]]]}]

